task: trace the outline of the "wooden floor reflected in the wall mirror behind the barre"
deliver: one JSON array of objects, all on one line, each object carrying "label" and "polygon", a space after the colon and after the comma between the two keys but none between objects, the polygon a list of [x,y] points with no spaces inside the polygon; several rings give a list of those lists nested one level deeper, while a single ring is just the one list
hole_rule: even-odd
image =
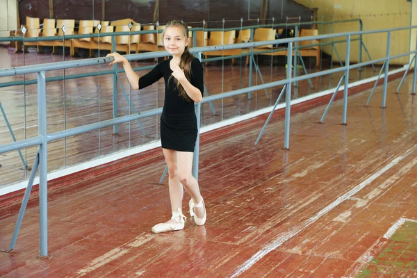
[{"label": "wooden floor reflected in the wall mirror behind the barre", "polygon": [[[17,67],[22,65],[35,65],[42,63],[60,62],[63,60],[72,60],[68,56],[36,54],[29,52],[26,54],[15,54],[13,49],[0,47],[0,55],[5,57],[2,67]],[[259,57],[259,67],[265,82],[277,81],[285,79],[286,70],[284,66],[284,58],[275,60],[271,65],[269,57]],[[315,61],[304,58],[306,67],[309,72],[316,72]],[[244,61],[245,59],[243,59]],[[239,62],[239,60],[237,61]],[[151,61],[136,63],[134,67],[142,65],[153,65]],[[222,63],[209,63],[204,68],[204,79],[208,92],[211,95],[220,92],[245,88],[249,83],[249,67],[230,65],[230,60]],[[322,69],[329,68],[329,60],[322,60]],[[338,67],[338,65],[334,65]],[[392,67],[390,67],[391,69]],[[82,67],[65,71],[65,75],[81,74],[85,72],[111,70],[108,65],[101,67]],[[369,76],[378,74],[373,72],[372,67],[363,68],[362,72],[352,70],[350,72],[350,81],[357,81]],[[47,77],[62,76],[63,70],[47,72]],[[142,72],[140,73],[142,74]],[[300,72],[301,74],[301,72]],[[341,73],[332,76],[322,76],[312,80],[313,88],[309,86],[307,81],[300,82],[298,88],[293,88],[293,99],[305,95],[311,95],[313,92],[335,88]],[[26,76],[9,76],[0,79],[0,82],[8,82],[15,80],[26,81],[36,79],[36,74],[26,74]],[[120,74],[122,84],[129,94],[129,83],[124,74]],[[260,84],[261,76],[253,74],[253,84]],[[147,111],[149,109],[163,106],[164,83],[161,80],[155,85],[141,90],[140,92],[131,91],[129,98],[136,111]],[[13,132],[17,140],[38,136],[38,101],[37,101],[37,85],[18,85],[13,87],[0,88],[0,101],[8,117]],[[48,132],[62,131],[76,126],[99,122],[100,120],[108,120],[113,117],[113,79],[111,75],[99,77],[85,77],[81,79],[70,79],[63,81],[54,81],[47,83],[47,124]],[[231,117],[243,115],[265,108],[274,104],[281,87],[268,90],[268,98],[264,90],[254,92],[252,99],[248,99],[247,95],[238,97],[230,97],[223,101],[213,101],[215,114],[211,111],[209,104],[202,106],[202,122],[201,126],[220,122]],[[26,101],[26,106],[24,103]],[[282,99],[284,101],[284,98]],[[118,87],[117,92],[118,115],[129,115],[133,111],[129,111],[129,104],[124,98],[122,90]],[[26,109],[25,109],[26,107]],[[26,124],[25,124],[26,122]],[[66,140],[56,140],[48,144],[48,170],[49,172],[63,169],[72,165],[77,165],[85,161],[91,161],[95,158],[106,156],[119,152],[129,147],[145,145],[159,139],[159,116],[148,117],[141,120],[141,124],[145,129],[146,135],[142,133],[138,122],[130,124],[120,124],[118,134],[113,134],[113,127],[101,129],[100,131],[92,131],[83,133],[79,136],[72,136]],[[13,142],[6,122],[0,115],[0,144]],[[31,166],[35,158],[37,147],[22,149],[24,160]],[[8,152],[0,155],[0,186],[10,183],[16,183],[27,179],[30,172],[25,171],[23,163],[17,152]]]}]

